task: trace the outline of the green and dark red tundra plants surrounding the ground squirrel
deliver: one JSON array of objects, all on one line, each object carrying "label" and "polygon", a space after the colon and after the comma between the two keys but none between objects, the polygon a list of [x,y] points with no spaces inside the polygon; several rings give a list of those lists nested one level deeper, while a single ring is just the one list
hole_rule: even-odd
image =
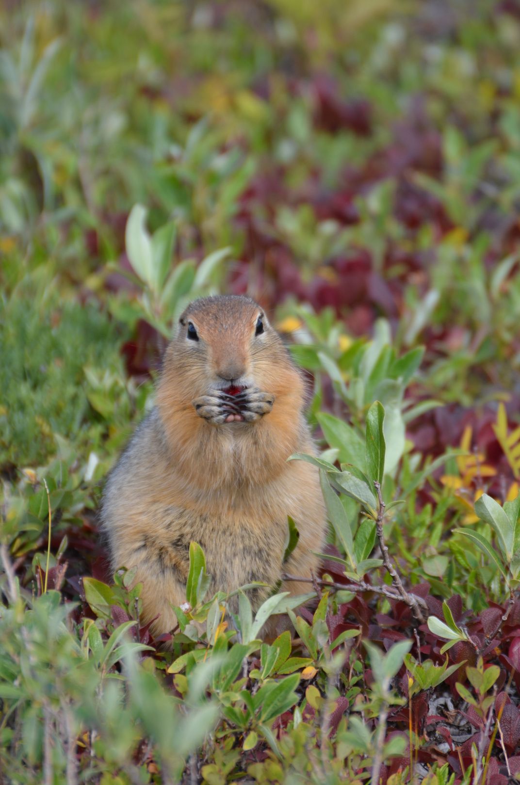
[{"label": "green and dark red tundra plants surrounding the ground squirrel", "polygon": [[[0,45],[2,783],[518,779],[520,4],[8,0]],[[217,291],[306,370],[330,534],[233,625],[192,543],[157,641],[97,508]]]}]

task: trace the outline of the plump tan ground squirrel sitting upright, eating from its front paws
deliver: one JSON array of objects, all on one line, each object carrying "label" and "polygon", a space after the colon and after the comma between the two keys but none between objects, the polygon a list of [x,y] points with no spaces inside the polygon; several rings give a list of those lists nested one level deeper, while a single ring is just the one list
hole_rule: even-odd
[{"label": "plump tan ground squirrel sitting upright, eating from its front paws", "polygon": [[[255,301],[189,305],[163,358],[156,407],[108,476],[101,510],[112,566],[137,568],[154,633],[177,623],[171,606],[185,602],[192,540],[203,547],[211,590],[276,586],[290,515],[300,539],[284,569],[316,571],[325,531],[318,472],[287,462],[315,452],[303,406],[302,376]],[[254,590],[252,604],[269,593]]]}]

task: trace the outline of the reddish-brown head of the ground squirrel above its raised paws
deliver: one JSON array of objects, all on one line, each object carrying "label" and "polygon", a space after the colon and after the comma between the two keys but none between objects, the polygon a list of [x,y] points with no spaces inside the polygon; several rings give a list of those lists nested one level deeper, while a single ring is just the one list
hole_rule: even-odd
[{"label": "reddish-brown head of the ground squirrel above its raised paws", "polygon": [[215,389],[233,395],[259,387],[280,394],[287,382],[298,389],[302,385],[264,310],[251,298],[236,295],[202,298],[185,309],[164,371],[190,400]]}]

